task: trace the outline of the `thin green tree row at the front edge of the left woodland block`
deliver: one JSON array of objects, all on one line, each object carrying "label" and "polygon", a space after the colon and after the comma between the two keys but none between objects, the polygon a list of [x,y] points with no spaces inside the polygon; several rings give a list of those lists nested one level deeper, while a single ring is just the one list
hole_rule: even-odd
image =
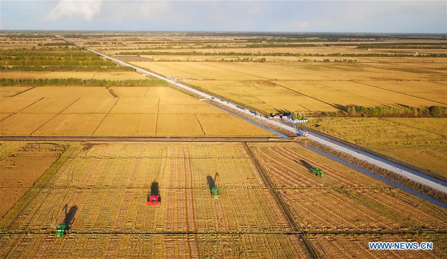
[{"label": "thin green tree row at the front edge of the left woodland block", "polygon": [[0,71],[135,71],[123,66],[0,66]]}]

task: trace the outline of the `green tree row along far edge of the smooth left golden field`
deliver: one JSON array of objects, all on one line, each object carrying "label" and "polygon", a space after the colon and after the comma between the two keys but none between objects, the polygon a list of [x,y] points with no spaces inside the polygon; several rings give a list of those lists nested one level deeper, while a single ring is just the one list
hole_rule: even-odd
[{"label": "green tree row along far edge of the smooth left golden field", "polygon": [[97,80],[80,78],[52,79],[0,79],[0,86],[167,86],[161,79]]}]

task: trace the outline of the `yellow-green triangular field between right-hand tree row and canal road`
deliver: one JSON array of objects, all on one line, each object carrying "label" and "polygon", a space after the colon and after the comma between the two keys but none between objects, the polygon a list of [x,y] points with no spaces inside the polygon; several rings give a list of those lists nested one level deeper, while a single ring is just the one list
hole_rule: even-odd
[{"label": "yellow-green triangular field between right-hand tree row and canal road", "polygon": [[309,122],[317,130],[447,175],[445,118],[315,118]]}]

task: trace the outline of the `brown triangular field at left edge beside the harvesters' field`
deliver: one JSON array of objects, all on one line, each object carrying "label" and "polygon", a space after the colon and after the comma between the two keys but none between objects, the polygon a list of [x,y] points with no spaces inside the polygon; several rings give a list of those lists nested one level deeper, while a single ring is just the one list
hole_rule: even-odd
[{"label": "brown triangular field at left edge beside the harvesters' field", "polygon": [[[8,151],[8,146],[11,146],[12,150]],[[8,155],[0,161],[0,217],[3,217],[59,158],[65,147],[55,144],[17,146],[13,143],[2,143],[0,149],[1,153],[6,152],[5,155]]]}]

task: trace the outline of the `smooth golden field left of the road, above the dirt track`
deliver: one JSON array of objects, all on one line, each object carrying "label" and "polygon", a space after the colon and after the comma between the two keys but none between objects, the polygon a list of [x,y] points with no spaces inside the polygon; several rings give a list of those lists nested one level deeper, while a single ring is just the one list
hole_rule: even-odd
[{"label": "smooth golden field left of the road, above the dirt track", "polygon": [[274,136],[165,86],[38,86],[21,92],[14,86],[11,90],[18,94],[0,100],[1,135]]}]

